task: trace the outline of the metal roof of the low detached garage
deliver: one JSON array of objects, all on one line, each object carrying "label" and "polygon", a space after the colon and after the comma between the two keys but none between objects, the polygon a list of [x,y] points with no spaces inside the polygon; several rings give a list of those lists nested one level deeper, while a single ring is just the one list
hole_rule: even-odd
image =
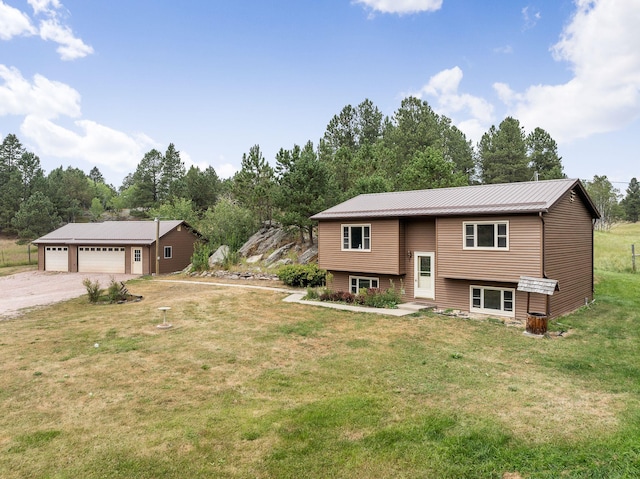
[{"label": "metal roof of the low detached garage", "polygon": [[[160,237],[182,220],[161,220]],[[135,244],[147,245],[156,240],[155,221],[105,221],[104,223],[69,223],[46,234],[35,244]]]}]

